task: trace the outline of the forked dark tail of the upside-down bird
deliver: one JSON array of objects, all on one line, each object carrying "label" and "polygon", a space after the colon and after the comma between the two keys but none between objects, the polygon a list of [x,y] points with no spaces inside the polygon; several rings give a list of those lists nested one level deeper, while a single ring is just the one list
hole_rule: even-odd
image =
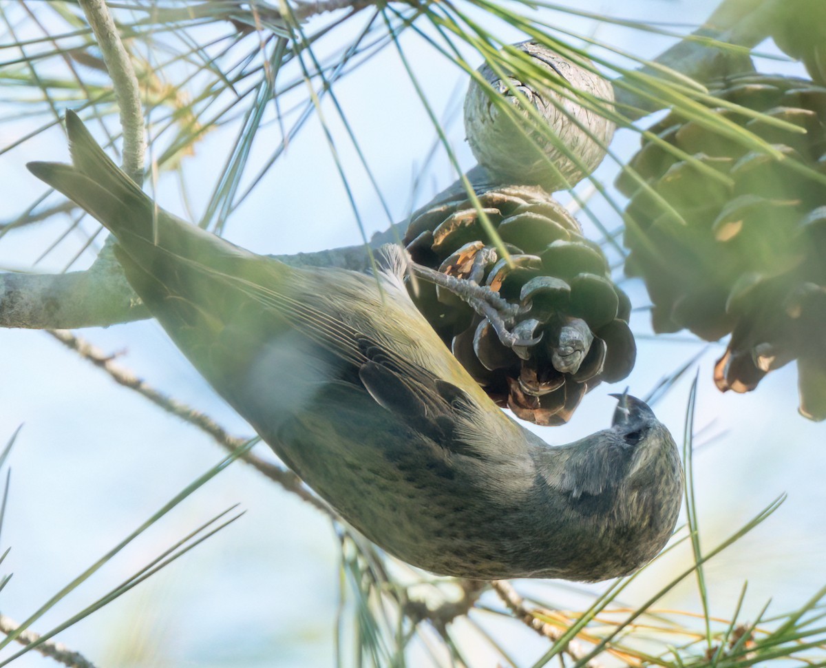
[{"label": "forked dark tail of the upside-down bird", "polygon": [[154,203],[97,145],[72,111],[66,112],[72,165],[30,162],[26,167],[38,179],[78,203],[118,237],[154,236]]}]

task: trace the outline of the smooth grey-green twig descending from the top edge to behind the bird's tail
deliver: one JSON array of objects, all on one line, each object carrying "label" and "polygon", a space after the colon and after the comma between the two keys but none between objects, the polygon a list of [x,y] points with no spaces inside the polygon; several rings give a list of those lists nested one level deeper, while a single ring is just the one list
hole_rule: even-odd
[{"label": "smooth grey-green twig descending from the top edge to behind the bird's tail", "polygon": [[115,20],[103,0],[78,0],[86,20],[97,38],[103,62],[112,78],[123,128],[123,170],[140,185],[144,181],[146,133],[144,112],[140,106],[140,85],[117,31]]}]

